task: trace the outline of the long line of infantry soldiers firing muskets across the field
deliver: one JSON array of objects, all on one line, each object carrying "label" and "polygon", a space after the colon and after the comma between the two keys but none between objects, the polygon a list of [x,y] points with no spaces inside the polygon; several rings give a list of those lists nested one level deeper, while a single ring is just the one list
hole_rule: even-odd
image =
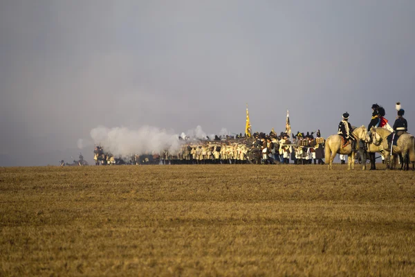
[{"label": "long line of infantry soldiers firing muskets across the field", "polygon": [[324,139],[317,132],[297,132],[292,135],[275,132],[270,134],[254,133],[252,136],[216,136],[213,141],[179,139],[181,148],[176,151],[148,152],[144,154],[131,153],[128,157],[114,157],[105,152],[101,146],[94,150],[96,165],[118,164],[277,164],[293,163],[324,164]]}]

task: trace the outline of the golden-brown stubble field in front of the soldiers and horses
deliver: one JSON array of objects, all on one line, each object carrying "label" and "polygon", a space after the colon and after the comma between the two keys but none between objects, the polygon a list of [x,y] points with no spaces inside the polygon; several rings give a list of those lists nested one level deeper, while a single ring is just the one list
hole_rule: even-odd
[{"label": "golden-brown stubble field in front of the soldiers and horses", "polygon": [[413,276],[415,173],[346,167],[0,168],[0,276]]}]

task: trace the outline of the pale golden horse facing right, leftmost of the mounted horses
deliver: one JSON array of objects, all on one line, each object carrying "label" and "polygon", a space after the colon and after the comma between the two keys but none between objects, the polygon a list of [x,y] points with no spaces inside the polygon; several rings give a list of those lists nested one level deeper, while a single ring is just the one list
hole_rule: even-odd
[{"label": "pale golden horse facing right, leftmost of the mounted horses", "polygon": [[[352,135],[357,141],[368,142],[370,139],[367,135],[367,129],[363,125],[361,127],[353,129]],[[358,145],[358,143],[356,144]],[[342,147],[342,136],[339,136],[338,134],[332,134],[331,136],[329,136],[326,139],[324,150],[326,156],[326,163],[328,163],[329,165],[329,170],[333,169],[332,163],[336,154],[347,155],[347,157],[349,157],[347,161],[347,169],[354,169],[354,152],[356,151],[356,148],[353,148],[351,143],[349,143],[345,147]]]}]

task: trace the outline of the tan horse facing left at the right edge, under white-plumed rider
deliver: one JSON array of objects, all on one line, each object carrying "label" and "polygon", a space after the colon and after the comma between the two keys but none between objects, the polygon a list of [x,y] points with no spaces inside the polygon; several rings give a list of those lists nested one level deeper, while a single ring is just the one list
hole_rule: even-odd
[{"label": "tan horse facing left at the right edge, under white-plumed rider", "polygon": [[412,134],[401,134],[398,138],[398,141],[396,141],[396,145],[391,146],[387,141],[387,136],[390,134],[391,132],[385,128],[372,127],[371,143],[369,143],[369,146],[374,145],[378,148],[378,150],[384,152],[387,169],[391,168],[391,154],[401,154],[403,157],[403,161],[401,162],[403,166],[405,166],[403,169],[409,170],[409,161],[411,161],[412,170],[415,170],[415,137],[412,136]]}]

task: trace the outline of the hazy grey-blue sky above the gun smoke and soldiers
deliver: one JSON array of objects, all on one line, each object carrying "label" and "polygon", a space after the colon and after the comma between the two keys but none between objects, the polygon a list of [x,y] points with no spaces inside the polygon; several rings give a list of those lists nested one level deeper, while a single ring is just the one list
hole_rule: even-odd
[{"label": "hazy grey-blue sky above the gun smoke and soldiers", "polygon": [[[92,161],[91,130],[337,132],[415,118],[415,1],[0,1],[0,166]],[[82,139],[82,143],[80,143]],[[81,145],[80,145],[81,144]],[[81,148],[78,148],[81,146]]]}]

